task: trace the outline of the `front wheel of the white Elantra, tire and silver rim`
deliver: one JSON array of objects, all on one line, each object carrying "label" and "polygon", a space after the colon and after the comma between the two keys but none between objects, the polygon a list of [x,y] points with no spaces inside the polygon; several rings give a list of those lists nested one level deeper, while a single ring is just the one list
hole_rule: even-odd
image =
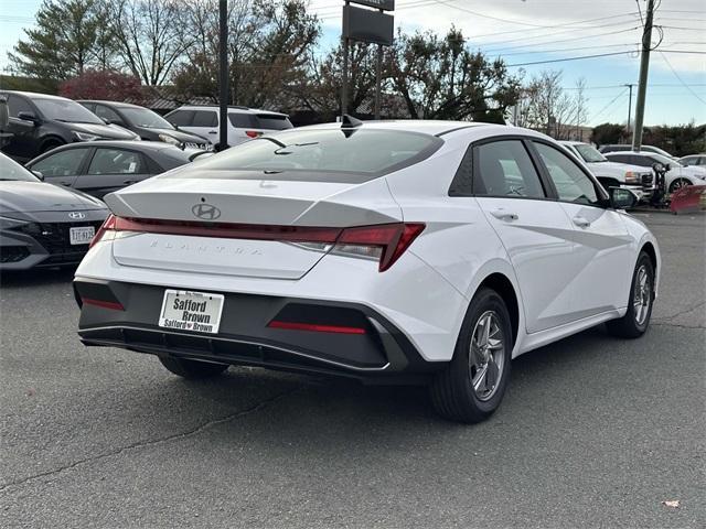
[{"label": "front wheel of the white Elantra, tire and silver rim", "polygon": [[628,312],[621,319],[608,322],[608,332],[620,338],[639,338],[650,325],[653,302],[654,266],[650,256],[641,251],[632,273]]}]

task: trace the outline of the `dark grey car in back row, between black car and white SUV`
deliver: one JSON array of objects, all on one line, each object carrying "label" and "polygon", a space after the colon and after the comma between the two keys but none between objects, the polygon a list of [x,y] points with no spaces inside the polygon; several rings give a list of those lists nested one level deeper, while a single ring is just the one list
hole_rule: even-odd
[{"label": "dark grey car in back row, between black car and white SUV", "polygon": [[201,136],[179,130],[149,108],[128,102],[77,101],[107,123],[117,125],[139,134],[143,140],[163,141],[178,147],[212,149],[211,142]]}]

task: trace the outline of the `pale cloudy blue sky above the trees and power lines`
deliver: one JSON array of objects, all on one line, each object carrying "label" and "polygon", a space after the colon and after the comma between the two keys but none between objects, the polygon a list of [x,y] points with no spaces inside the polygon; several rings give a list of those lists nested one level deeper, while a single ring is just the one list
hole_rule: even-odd
[{"label": "pale cloudy blue sky above the trees and power lines", "polygon": [[[706,1],[656,2],[655,24],[664,39],[651,57],[645,123],[706,122]],[[22,29],[32,25],[40,4],[41,0],[0,0],[0,67],[7,66],[7,52]],[[342,4],[310,0],[323,22],[319,53],[338,41]],[[584,77],[589,87],[589,125],[598,125],[628,118],[624,85],[638,82],[640,58],[630,52],[638,50],[639,9],[644,14],[645,8],[645,0],[397,0],[395,26],[445,33],[454,24],[473,46],[502,56],[516,65],[511,71],[524,71],[526,78],[543,69],[561,69],[564,86],[575,89]],[[653,41],[657,40],[655,32]],[[618,52],[624,53],[526,64]]]}]

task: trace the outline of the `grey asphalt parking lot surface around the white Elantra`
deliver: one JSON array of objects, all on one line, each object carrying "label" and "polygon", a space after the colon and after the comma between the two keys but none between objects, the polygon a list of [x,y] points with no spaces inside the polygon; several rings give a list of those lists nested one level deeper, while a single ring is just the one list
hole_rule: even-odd
[{"label": "grey asphalt parking lot surface around the white Elantra", "polygon": [[516,359],[474,427],[420,388],[183,381],[83,347],[71,271],[3,277],[0,526],[703,528],[706,216],[640,217],[664,259],[649,333]]}]

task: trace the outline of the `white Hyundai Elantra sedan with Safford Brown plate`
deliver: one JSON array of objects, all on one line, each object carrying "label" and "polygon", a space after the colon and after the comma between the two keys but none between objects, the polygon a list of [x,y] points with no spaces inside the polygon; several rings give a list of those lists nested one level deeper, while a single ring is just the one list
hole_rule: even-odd
[{"label": "white Hyundai Elantra sedan with Safford Brown plate", "polygon": [[229,365],[428,384],[446,418],[500,404],[511,360],[650,323],[653,235],[525,129],[345,118],[264,136],[106,196],[76,271],[86,345],[186,378]]}]

